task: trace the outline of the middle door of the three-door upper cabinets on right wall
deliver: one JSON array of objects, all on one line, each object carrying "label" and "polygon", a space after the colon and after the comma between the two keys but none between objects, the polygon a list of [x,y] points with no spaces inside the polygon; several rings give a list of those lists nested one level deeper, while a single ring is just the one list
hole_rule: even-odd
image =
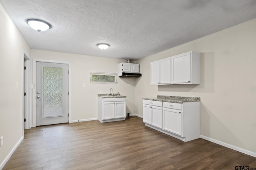
[{"label": "middle door of the three-door upper cabinets on right wall", "polygon": [[171,83],[171,58],[160,60],[160,84]]}]

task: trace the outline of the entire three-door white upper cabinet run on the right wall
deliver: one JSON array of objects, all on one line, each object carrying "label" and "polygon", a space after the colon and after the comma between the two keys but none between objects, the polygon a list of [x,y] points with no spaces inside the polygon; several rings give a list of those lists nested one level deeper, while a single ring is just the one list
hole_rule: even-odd
[{"label": "entire three-door white upper cabinet run on the right wall", "polygon": [[200,53],[193,51],[150,63],[152,85],[200,84]]}]

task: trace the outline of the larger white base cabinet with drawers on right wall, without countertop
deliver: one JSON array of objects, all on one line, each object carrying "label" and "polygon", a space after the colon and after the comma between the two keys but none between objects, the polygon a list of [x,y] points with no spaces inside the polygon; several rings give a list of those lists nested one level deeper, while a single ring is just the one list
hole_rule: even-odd
[{"label": "larger white base cabinet with drawers on right wall, without countertop", "polygon": [[148,127],[184,142],[198,139],[200,102],[178,104],[143,100],[143,122]]}]

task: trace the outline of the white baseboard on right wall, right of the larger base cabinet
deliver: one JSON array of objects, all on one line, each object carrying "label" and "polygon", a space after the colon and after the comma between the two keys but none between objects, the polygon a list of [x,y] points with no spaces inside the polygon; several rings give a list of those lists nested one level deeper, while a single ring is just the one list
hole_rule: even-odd
[{"label": "white baseboard on right wall, right of the larger base cabinet", "polygon": [[224,146],[224,147],[227,147],[227,148],[236,150],[236,151],[238,151],[238,152],[242,152],[242,153],[244,153],[244,154],[248,154],[248,155],[250,155],[250,156],[256,157],[256,153],[251,152],[251,151],[249,151],[249,150],[245,150],[245,149],[242,149],[242,148],[239,148],[239,147],[230,145],[230,144],[228,144],[228,143],[224,143],[224,142],[221,142],[221,141],[212,139],[212,138],[210,138],[210,137],[206,137],[206,136],[204,136],[204,135],[201,135],[201,138],[202,138],[202,139],[205,139],[205,140],[207,140],[207,141],[210,141],[210,142],[213,142],[213,143],[222,145],[222,146]]}]

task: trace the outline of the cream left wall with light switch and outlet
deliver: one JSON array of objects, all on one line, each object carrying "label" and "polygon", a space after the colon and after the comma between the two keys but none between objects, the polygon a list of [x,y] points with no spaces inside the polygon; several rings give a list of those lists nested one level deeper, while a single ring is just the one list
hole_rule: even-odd
[{"label": "cream left wall with light switch and outlet", "polygon": [[23,137],[23,49],[30,55],[30,47],[0,4],[0,169]]}]

